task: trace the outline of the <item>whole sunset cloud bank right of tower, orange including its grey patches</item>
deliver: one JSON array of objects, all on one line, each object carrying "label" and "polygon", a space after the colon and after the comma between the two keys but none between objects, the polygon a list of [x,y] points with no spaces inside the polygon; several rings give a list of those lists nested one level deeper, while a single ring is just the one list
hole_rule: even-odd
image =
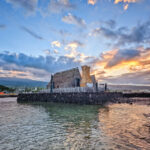
[{"label": "whole sunset cloud bank right of tower, orange including its grey patches", "polygon": [[[95,74],[100,82],[113,84],[150,83],[148,76],[150,68],[149,47],[106,51],[91,65],[92,74]],[[99,74],[99,72],[103,73]]]}]

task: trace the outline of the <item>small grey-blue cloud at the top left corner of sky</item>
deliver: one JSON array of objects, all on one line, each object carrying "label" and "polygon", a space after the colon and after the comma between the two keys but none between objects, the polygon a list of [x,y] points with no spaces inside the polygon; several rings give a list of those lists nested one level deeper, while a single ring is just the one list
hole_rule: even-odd
[{"label": "small grey-blue cloud at the top left corner of sky", "polygon": [[6,2],[15,7],[23,7],[29,13],[33,13],[38,4],[38,0],[6,0]]}]

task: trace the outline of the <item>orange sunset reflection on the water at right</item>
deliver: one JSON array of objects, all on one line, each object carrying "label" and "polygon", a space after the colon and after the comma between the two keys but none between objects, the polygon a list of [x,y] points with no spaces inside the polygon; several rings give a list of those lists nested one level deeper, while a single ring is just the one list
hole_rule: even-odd
[{"label": "orange sunset reflection on the water at right", "polygon": [[150,149],[150,107],[114,104],[99,110],[100,129],[114,149]]}]

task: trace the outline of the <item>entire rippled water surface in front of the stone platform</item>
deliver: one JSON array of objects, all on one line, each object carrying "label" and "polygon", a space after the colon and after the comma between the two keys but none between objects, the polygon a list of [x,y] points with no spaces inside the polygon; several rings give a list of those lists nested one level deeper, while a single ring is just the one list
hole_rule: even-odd
[{"label": "entire rippled water surface in front of the stone platform", "polygon": [[150,150],[150,105],[17,104],[0,99],[0,150]]}]

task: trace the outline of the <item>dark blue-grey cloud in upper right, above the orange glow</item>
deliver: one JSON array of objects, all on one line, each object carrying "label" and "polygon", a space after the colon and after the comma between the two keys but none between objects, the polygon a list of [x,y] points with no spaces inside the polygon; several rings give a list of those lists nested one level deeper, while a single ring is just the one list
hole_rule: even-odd
[{"label": "dark blue-grey cloud in upper right, above the orange glow", "polygon": [[[110,25],[113,25],[113,21],[110,21]],[[141,44],[150,42],[150,21],[143,24],[138,24],[132,29],[121,27],[113,30],[109,27],[99,27],[92,31],[92,35],[104,36],[108,39],[113,40],[114,45],[125,45],[125,44]]]}]

